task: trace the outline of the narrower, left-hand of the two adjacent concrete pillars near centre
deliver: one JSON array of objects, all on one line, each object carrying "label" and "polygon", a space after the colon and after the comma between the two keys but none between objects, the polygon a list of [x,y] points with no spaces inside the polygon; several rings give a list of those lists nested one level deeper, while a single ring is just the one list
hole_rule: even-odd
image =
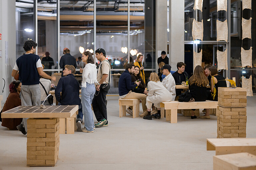
[{"label": "narrower, left-hand of the two adjacent concrete pillars near centre", "polygon": [[155,62],[156,72],[158,69],[157,58],[161,57],[161,51],[167,52],[167,21],[166,19],[167,19],[167,1],[157,0],[156,1],[156,62]]}]

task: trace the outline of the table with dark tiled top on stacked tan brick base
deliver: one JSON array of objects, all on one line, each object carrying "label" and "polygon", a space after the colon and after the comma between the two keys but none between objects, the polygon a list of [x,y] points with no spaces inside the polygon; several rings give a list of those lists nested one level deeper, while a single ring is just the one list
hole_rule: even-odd
[{"label": "table with dark tiled top on stacked tan brick base", "polygon": [[[76,117],[78,105],[19,106],[2,113],[2,118],[27,120],[27,166],[55,166],[59,157],[59,118]],[[74,126],[73,126],[74,127]]]}]

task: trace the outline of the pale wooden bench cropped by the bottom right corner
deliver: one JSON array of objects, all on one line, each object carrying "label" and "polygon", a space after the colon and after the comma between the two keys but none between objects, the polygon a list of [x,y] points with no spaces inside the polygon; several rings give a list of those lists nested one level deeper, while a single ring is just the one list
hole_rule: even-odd
[{"label": "pale wooden bench cropped by the bottom right corner", "polygon": [[213,156],[213,170],[255,170],[256,156],[250,153],[234,153]]}]

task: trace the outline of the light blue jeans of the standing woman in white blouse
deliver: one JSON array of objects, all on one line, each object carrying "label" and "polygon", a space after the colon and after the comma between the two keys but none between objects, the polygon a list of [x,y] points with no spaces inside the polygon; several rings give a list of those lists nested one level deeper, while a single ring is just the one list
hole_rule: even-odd
[{"label": "light blue jeans of the standing woman in white blouse", "polygon": [[95,85],[86,83],[86,88],[82,87],[82,108],[84,114],[84,127],[88,131],[93,131],[94,120],[92,112],[92,99],[95,94]]}]

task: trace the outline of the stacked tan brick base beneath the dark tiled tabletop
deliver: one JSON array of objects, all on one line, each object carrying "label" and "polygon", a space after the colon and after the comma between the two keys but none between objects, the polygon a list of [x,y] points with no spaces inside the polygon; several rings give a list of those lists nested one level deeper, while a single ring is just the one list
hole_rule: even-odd
[{"label": "stacked tan brick base beneath the dark tiled tabletop", "polygon": [[59,155],[59,118],[27,120],[27,166],[55,166]]}]

